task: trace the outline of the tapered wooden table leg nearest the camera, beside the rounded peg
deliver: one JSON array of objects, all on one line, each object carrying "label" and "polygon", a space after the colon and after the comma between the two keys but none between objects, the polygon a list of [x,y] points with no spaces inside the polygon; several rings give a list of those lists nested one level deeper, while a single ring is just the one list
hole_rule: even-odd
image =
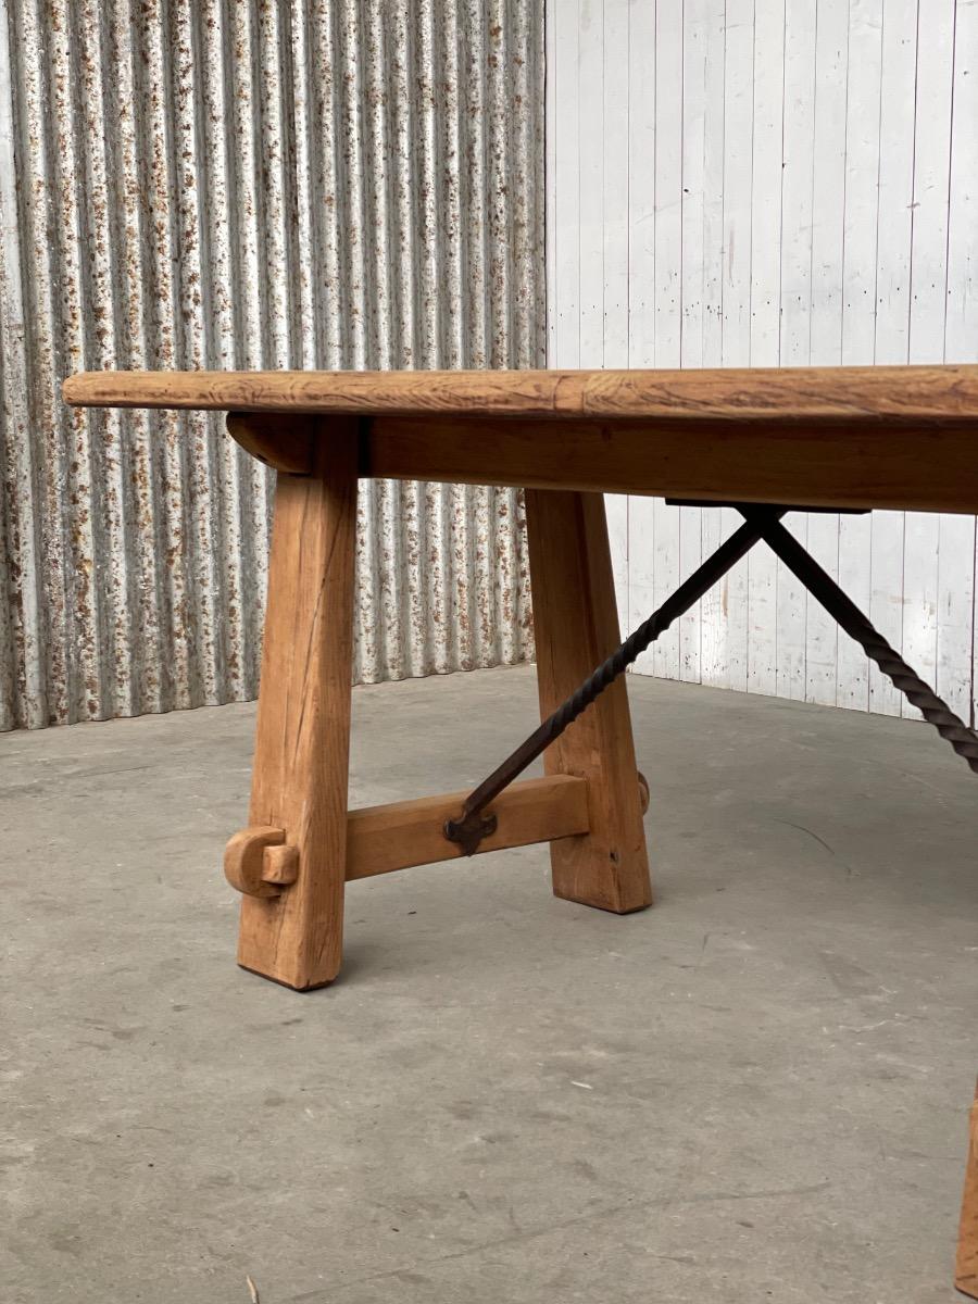
[{"label": "tapered wooden table leg nearest the camera, beside the rounded peg", "polygon": [[243,898],[237,948],[297,988],[335,978],[343,949],[356,422],[330,421],[313,447],[313,473],[280,472],[275,489],[252,775],[250,824],[284,835],[265,852],[278,895]]}]

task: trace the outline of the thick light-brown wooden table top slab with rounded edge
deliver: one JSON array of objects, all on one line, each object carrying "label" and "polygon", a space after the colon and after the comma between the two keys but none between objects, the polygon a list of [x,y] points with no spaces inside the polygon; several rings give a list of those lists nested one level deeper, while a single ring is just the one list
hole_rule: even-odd
[{"label": "thick light-brown wooden table top slab with rounded edge", "polygon": [[77,407],[446,417],[978,421],[978,365],[631,372],[85,372]]}]

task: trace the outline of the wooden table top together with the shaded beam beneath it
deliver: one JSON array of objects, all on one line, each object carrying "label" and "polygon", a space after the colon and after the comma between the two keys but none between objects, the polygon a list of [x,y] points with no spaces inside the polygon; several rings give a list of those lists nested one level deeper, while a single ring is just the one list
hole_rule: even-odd
[{"label": "wooden table top together with the shaded beam beneath it", "polygon": [[64,396],[223,409],[295,473],[355,432],[364,476],[978,512],[978,365],[89,372]]}]

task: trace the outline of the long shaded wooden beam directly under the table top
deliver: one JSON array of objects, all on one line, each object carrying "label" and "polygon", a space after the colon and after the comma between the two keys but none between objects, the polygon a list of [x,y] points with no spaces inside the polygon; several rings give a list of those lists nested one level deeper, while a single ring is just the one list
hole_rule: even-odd
[{"label": "long shaded wooden beam directly under the table top", "polygon": [[853,424],[376,417],[361,472],[807,507],[978,511],[978,419]]}]

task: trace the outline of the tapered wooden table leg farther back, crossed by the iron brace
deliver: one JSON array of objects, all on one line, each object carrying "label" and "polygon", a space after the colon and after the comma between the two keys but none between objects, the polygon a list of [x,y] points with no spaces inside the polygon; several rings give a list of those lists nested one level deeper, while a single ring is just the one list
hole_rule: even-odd
[{"label": "tapered wooden table leg farther back, crossed by the iron brace", "polygon": [[[618,614],[601,494],[528,489],[541,717],[618,644]],[[591,831],[550,845],[559,897],[625,914],[652,902],[642,795],[625,677],[544,755],[548,773],[588,780]]]}]

